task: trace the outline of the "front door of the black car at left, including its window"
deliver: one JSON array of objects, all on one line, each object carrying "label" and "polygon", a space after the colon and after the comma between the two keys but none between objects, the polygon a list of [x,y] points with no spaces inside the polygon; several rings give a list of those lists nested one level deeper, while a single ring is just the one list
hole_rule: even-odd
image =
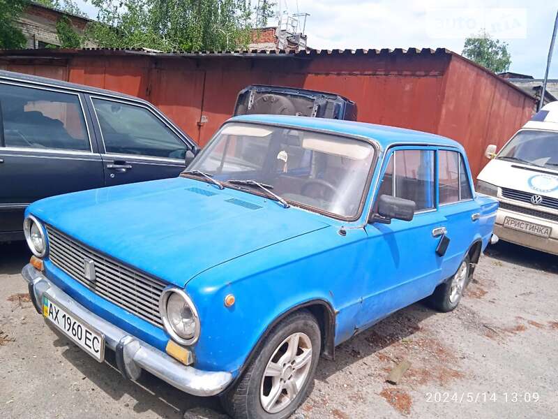
[{"label": "front door of the black car at left, including its window", "polygon": [[193,142],[149,106],[97,96],[89,98],[89,105],[107,186],[176,177],[186,168]]}]

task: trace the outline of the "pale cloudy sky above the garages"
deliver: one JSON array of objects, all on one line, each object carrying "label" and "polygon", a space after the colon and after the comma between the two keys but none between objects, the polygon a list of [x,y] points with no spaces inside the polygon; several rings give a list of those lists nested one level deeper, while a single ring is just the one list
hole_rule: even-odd
[{"label": "pale cloudy sky above the garages", "polygon": [[[255,0],[252,0],[255,3]],[[508,43],[509,71],[542,78],[557,1],[533,0],[276,0],[290,14],[308,13],[308,46],[356,48],[445,47],[461,53],[465,38],[485,27]],[[90,17],[86,0],[78,6]],[[529,6],[529,7],[526,7]],[[558,43],[550,78],[558,78]]]}]

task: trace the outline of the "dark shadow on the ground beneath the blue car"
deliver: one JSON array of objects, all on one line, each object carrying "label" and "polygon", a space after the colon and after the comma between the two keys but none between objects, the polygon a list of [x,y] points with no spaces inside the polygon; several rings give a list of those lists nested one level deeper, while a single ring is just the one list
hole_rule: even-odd
[{"label": "dark shadow on the ground beneath the blue car", "polygon": [[[317,380],[326,381],[353,362],[413,335],[420,330],[419,324],[433,314],[436,311],[418,302],[352,337],[335,349],[334,361],[320,359]],[[163,418],[197,418],[199,414],[206,418],[227,417],[218,397],[188,395],[148,372],[142,372],[137,382],[129,381],[117,369],[113,351],[106,351],[107,362],[101,364],[75,346],[53,325],[47,325],[56,334],[54,346],[66,348],[62,352],[63,358],[83,374],[83,379],[87,378],[94,383],[95,386],[88,389],[89,394],[95,388],[105,392],[119,404],[127,403],[136,413],[152,411]],[[312,388],[313,385],[310,392]]]}]

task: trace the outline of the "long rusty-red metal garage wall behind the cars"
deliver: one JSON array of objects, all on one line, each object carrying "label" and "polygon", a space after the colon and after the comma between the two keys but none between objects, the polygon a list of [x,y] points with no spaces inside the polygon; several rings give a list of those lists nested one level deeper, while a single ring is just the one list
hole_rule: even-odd
[{"label": "long rusty-red metal garage wall behind the cars", "polygon": [[[231,116],[236,95],[248,84],[331,91],[356,101],[360,121],[458,140],[474,175],[485,164],[486,145],[502,145],[534,109],[534,99],[445,50],[250,58],[78,51],[51,61],[1,59],[0,68],[10,71],[145,98],[200,145]],[[206,122],[200,124],[202,116]]]}]

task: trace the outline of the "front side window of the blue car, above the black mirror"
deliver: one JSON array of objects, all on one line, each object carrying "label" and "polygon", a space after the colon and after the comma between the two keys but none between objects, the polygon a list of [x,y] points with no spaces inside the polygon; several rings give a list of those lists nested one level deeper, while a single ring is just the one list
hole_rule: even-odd
[{"label": "front side window of the blue car, above the black mirror", "polygon": [[395,151],[380,185],[379,195],[382,194],[413,200],[416,211],[434,208],[434,152]]}]

